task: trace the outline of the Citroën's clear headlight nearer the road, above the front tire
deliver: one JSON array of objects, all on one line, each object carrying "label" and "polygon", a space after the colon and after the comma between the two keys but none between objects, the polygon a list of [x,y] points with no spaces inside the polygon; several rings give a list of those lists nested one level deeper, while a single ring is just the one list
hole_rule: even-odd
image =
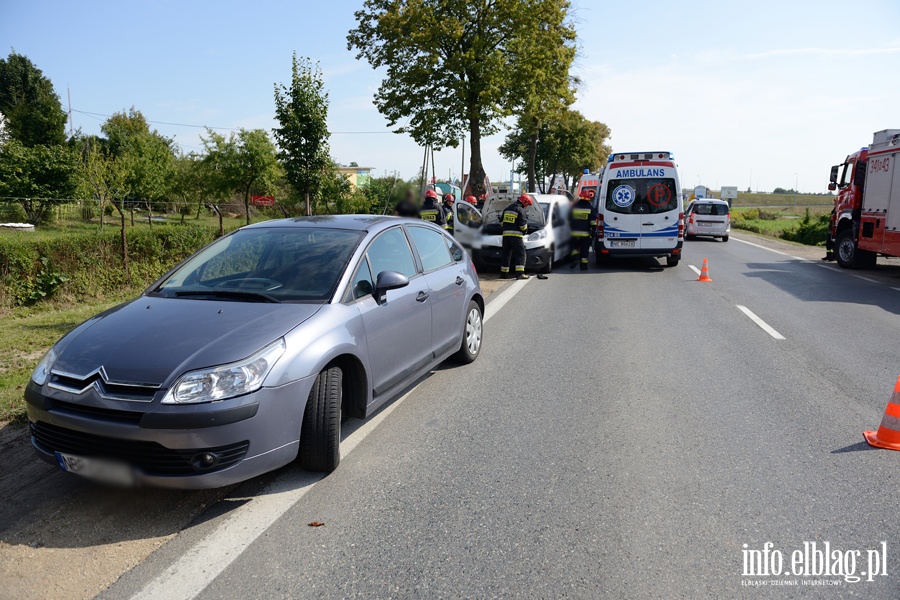
[{"label": "Citro\u00ebn's clear headlight nearer the road, above the front tire", "polygon": [[281,338],[244,360],[189,371],[179,377],[162,399],[163,404],[196,404],[225,400],[255,392],[284,354]]}]

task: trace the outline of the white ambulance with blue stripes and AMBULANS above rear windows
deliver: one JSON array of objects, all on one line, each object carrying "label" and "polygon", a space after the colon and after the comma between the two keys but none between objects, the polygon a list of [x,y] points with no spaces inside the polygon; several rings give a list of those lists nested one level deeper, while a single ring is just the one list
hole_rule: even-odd
[{"label": "white ambulance with blue stripes and AMBULANS above rear windows", "polygon": [[617,152],[600,183],[598,264],[614,257],[666,258],[674,267],[684,244],[684,207],[671,152]]}]

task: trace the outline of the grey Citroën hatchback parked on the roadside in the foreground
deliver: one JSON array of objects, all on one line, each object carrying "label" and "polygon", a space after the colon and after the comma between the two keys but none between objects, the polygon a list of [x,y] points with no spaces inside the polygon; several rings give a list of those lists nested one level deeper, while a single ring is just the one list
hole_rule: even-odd
[{"label": "grey Citro\u00ebn hatchback parked on the roadside in the foreground", "polygon": [[119,484],[218,487],[298,456],[330,472],[342,420],[448,357],[474,361],[483,313],[471,260],[433,225],[244,227],[47,352],[25,390],[32,443]]}]

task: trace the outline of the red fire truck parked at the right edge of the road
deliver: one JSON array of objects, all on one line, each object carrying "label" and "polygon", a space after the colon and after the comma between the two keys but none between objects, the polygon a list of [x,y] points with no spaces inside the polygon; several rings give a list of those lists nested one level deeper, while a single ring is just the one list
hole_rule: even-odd
[{"label": "red fire truck parked at the right edge of the road", "polygon": [[900,256],[900,129],[876,131],[872,145],[831,167],[831,235],[845,269],[875,266],[879,254]]}]

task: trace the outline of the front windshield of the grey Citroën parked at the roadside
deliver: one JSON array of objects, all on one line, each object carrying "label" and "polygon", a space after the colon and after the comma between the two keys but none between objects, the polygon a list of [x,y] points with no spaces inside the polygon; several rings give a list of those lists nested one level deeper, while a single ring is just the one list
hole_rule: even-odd
[{"label": "front windshield of the grey Citro\u00ebn parked at the roadside", "polygon": [[151,294],[249,302],[325,302],[364,233],[242,229],[196,254]]}]

